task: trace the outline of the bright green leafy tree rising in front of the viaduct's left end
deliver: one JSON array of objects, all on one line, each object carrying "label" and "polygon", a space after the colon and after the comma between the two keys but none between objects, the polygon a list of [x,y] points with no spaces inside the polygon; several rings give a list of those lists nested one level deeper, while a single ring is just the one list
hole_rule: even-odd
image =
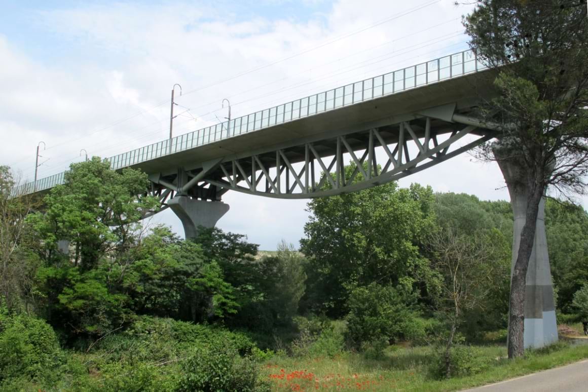
[{"label": "bright green leafy tree rising in front of the viaduct's left end", "polygon": [[133,243],[133,232],[146,210],[157,200],[145,196],[145,173],[130,168],[122,172],[98,157],[72,163],[64,185],[44,198],[44,212],[29,218],[45,245],[42,254],[51,262],[59,240],[74,244],[74,263],[89,270],[108,252],[122,253]]}]

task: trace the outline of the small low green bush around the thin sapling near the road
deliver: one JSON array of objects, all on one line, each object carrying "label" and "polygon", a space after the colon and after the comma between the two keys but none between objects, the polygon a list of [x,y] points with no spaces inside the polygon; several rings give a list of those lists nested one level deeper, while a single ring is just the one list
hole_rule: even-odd
[{"label": "small low green bush around the thin sapling near the road", "polygon": [[432,376],[437,379],[450,377],[473,376],[486,370],[492,358],[483,356],[482,350],[463,344],[454,345],[449,353],[451,363],[450,374],[446,373],[445,347],[439,347],[432,362]]}]

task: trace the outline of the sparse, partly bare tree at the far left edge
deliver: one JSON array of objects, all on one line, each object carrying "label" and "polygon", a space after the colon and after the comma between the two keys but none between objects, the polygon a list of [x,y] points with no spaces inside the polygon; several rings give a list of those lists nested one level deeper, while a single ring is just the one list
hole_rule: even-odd
[{"label": "sparse, partly bare tree at the far left edge", "polygon": [[0,166],[0,302],[17,309],[32,286],[36,261],[29,251],[29,226],[25,217],[36,206],[35,198],[19,195],[16,179]]}]

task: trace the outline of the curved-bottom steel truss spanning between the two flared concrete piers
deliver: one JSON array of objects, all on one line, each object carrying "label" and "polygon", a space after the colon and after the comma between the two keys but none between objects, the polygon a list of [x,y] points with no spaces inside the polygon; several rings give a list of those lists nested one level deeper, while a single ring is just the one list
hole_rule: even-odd
[{"label": "curved-bottom steel truss spanning between the two flared concrete piers", "polygon": [[[458,146],[466,135],[475,140]],[[356,192],[400,179],[452,158],[493,137],[477,125],[420,117],[333,138],[222,160],[193,175],[192,197],[227,190],[282,199]],[[380,153],[378,153],[380,151]],[[348,156],[350,159],[345,158]],[[377,157],[384,156],[382,162]],[[352,165],[352,172],[345,166]],[[197,184],[196,184],[197,183]],[[217,199],[218,200],[218,199]]]}]

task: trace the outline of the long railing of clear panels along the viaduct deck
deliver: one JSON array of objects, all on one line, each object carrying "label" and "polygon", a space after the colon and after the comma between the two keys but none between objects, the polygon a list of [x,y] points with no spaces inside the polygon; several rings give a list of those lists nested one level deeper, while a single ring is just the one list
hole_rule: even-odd
[{"label": "long railing of clear panels along the viaduct deck", "polygon": [[[479,61],[479,58],[471,50],[453,53],[449,56],[409,66],[398,71],[296,99],[269,109],[259,110],[246,116],[231,119],[230,122],[225,121],[208,126],[176,136],[171,140],[162,140],[111,158],[105,158],[105,160],[110,162],[111,169],[117,170],[161,156],[217,142],[218,140],[343,108],[365,100],[380,98],[385,95],[456,78],[486,68],[487,66]],[[171,143],[171,148],[169,143]],[[62,184],[64,183],[64,174],[65,172],[62,172],[39,179],[36,184],[27,183],[22,185],[24,189],[21,188],[20,191],[21,193],[31,193]]]}]

